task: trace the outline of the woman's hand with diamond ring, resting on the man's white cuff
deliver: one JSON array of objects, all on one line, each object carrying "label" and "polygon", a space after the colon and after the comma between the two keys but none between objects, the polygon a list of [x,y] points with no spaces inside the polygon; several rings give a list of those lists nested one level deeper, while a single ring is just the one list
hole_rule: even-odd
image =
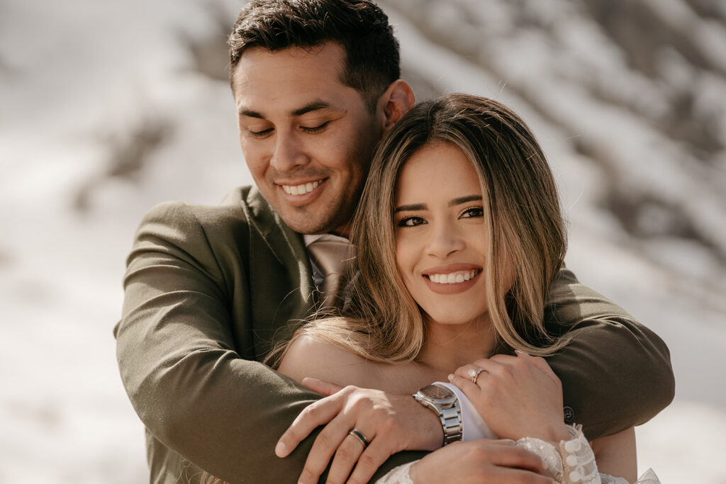
[{"label": "woman's hand with diamond ring, resting on the man's white cuff", "polygon": [[[470,370],[483,369],[472,382]],[[496,355],[461,366],[449,381],[470,399],[499,438],[568,440],[562,384],[544,358]]]}]

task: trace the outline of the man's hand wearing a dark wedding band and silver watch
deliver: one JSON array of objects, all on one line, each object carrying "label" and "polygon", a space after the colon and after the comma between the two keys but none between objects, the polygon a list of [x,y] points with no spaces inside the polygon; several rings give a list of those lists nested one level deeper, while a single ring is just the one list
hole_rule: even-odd
[{"label": "man's hand wearing a dark wedding band and silver watch", "polygon": [[[328,483],[367,483],[392,454],[404,450],[433,451],[444,441],[439,419],[412,395],[339,387],[314,378],[304,379],[303,385],[327,396],[306,407],[275,448],[277,456],[285,457],[312,430],[325,425],[308,454],[300,483],[317,483],[334,454]],[[367,438],[366,448],[354,435],[348,435],[352,429]]]}]

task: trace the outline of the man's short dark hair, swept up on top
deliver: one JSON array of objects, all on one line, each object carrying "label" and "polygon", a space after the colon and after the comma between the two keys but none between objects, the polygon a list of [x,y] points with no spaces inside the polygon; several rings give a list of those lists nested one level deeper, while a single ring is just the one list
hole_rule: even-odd
[{"label": "man's short dark hair, swept up on top", "polygon": [[357,89],[370,110],[401,77],[399,43],[388,16],[370,0],[252,0],[229,35],[229,79],[249,47],[271,51],[337,42],[345,49],[340,81]]}]

